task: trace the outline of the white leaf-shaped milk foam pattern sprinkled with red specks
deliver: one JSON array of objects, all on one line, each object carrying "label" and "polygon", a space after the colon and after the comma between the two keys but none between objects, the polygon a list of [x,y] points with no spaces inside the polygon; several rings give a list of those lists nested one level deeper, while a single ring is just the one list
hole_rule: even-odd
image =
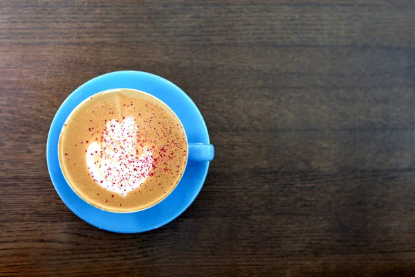
[{"label": "white leaf-shaped milk foam pattern sprinkled with red specks", "polygon": [[[94,141],[86,151],[86,165],[93,180],[123,197],[140,188],[154,162],[150,148],[136,149],[138,126],[135,122],[133,116],[127,116],[122,123],[116,119],[108,121],[102,132],[102,145]],[[140,152],[143,153],[138,156]]]}]

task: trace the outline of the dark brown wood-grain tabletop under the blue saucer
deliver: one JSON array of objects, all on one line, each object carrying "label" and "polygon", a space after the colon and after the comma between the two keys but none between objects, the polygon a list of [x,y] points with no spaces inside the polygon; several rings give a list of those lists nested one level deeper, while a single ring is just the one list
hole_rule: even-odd
[{"label": "dark brown wood-grain tabletop under the blue saucer", "polygon": [[[183,88],[216,157],[147,233],[101,231],[46,167],[110,71]],[[415,2],[0,1],[0,276],[414,276]]]}]

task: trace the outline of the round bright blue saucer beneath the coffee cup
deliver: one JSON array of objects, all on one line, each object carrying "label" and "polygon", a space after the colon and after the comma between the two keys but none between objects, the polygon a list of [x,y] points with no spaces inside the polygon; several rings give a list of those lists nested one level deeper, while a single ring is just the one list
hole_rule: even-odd
[{"label": "round bright blue saucer beneath the coffee cup", "polygon": [[59,197],[75,215],[100,229],[117,233],[140,233],[156,229],[181,215],[199,194],[208,161],[188,161],[185,173],[173,192],[162,202],[136,213],[111,213],[84,202],[69,187],[59,167],[57,144],[64,121],[82,100],[107,89],[131,88],[146,91],[163,100],[180,118],[189,143],[210,143],[205,121],[187,94],[172,82],[141,71],[118,71],[100,75],[82,84],[59,107],[48,134],[46,159],[53,186]]}]

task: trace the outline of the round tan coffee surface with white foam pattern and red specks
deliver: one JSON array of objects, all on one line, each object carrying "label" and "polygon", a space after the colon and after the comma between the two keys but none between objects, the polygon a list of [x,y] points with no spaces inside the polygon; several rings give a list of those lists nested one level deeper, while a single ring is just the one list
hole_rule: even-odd
[{"label": "round tan coffee surface with white foam pattern and red specks", "polygon": [[59,163],[86,202],[107,211],[140,211],[160,202],[180,181],[187,139],[173,111],[154,96],[104,91],[66,120]]}]

